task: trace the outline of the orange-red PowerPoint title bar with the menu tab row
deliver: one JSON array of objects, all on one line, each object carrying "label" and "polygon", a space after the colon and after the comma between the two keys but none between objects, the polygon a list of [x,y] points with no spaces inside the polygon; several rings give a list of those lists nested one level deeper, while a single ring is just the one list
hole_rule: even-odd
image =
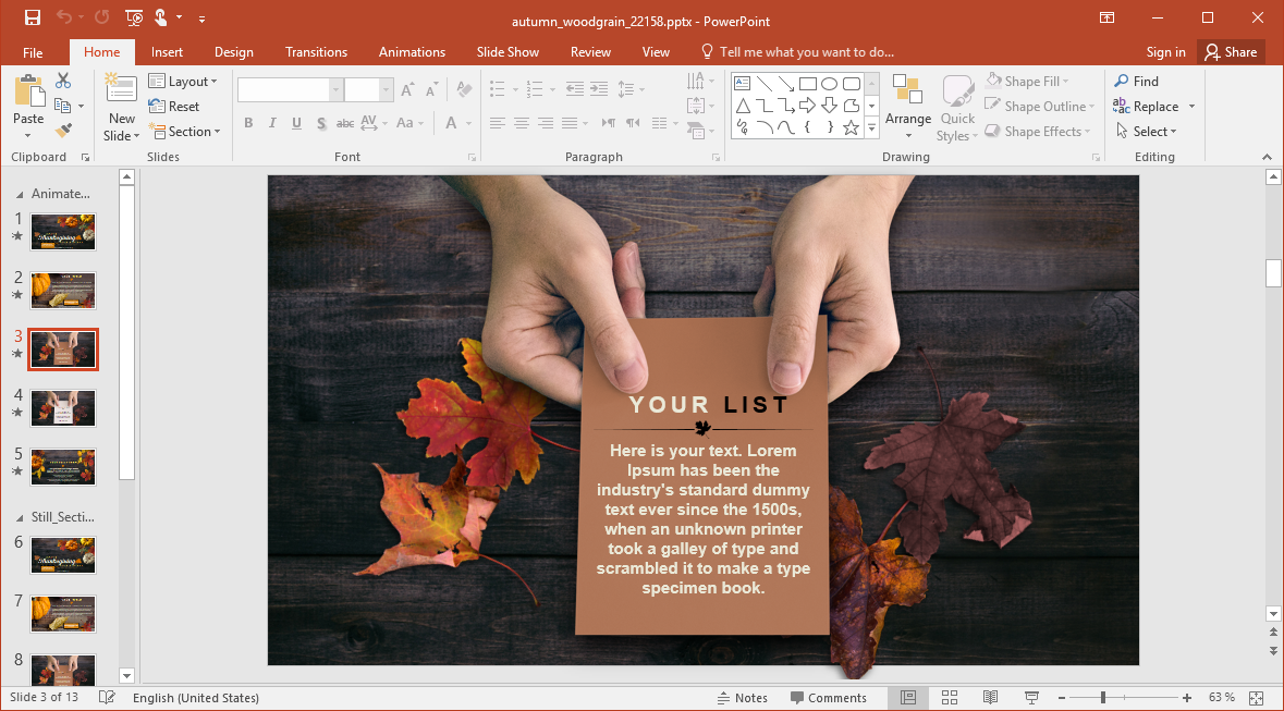
[{"label": "orange-red PowerPoint title bar with the menu tab row", "polygon": [[[344,9],[4,1],[3,63],[65,65],[69,40],[134,40],[139,64],[1280,64],[1279,3],[984,6],[571,0]],[[1207,40],[1233,37],[1234,40]],[[1245,54],[1222,50],[1247,47]],[[1238,42],[1238,44],[1236,44]],[[92,45],[92,42],[85,42]],[[1208,45],[1219,51],[1210,54]],[[1251,50],[1251,54],[1248,53]]]}]

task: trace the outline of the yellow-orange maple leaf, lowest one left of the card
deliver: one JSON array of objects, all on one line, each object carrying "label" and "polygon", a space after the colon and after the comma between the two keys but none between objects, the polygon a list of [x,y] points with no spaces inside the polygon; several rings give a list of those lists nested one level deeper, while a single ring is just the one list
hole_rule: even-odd
[{"label": "yellow-orange maple leaf, lowest one left of the card", "polygon": [[384,477],[380,508],[402,539],[374,565],[353,575],[383,575],[424,565],[458,567],[479,557],[482,531],[499,502],[499,488],[466,485],[464,453],[455,448],[455,467],[440,486],[420,483],[419,472],[388,474],[375,465]]}]

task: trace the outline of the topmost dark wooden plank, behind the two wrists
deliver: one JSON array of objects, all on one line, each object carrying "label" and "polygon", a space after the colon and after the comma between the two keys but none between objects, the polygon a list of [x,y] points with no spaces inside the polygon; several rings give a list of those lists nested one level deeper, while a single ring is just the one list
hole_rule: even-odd
[{"label": "topmost dark wooden plank, behind the two wrists", "polygon": [[[550,177],[656,291],[754,291],[799,176]],[[892,287],[1138,287],[1135,176],[923,176],[892,221]],[[487,291],[489,227],[435,177],[275,176],[272,290]]]}]

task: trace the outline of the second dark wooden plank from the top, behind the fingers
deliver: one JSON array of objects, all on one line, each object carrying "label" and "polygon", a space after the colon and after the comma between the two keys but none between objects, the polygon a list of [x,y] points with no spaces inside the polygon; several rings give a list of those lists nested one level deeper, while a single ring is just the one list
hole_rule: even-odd
[{"label": "second dark wooden plank from the top, behind the fingers", "polygon": [[[895,295],[901,350],[829,406],[831,420],[935,421],[936,395],[914,348],[931,356],[942,395],[991,394],[1023,421],[1136,422],[1135,291]],[[462,375],[460,338],[480,338],[483,295],[272,295],[268,412],[276,421],[393,421],[421,377]],[[749,295],[652,294],[659,318],[752,316]],[[765,354],[764,368],[765,366]],[[578,421],[550,403],[542,420]]]}]

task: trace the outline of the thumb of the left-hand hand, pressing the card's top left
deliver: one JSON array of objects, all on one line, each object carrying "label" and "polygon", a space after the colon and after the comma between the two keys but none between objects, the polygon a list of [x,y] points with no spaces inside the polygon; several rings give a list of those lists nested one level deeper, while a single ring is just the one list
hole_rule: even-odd
[{"label": "thumb of the left-hand hand, pressing the card's top left", "polygon": [[597,362],[611,385],[624,393],[646,388],[646,354],[624,317],[611,273],[593,271],[569,284],[562,294],[584,322],[584,339],[592,341]]}]

